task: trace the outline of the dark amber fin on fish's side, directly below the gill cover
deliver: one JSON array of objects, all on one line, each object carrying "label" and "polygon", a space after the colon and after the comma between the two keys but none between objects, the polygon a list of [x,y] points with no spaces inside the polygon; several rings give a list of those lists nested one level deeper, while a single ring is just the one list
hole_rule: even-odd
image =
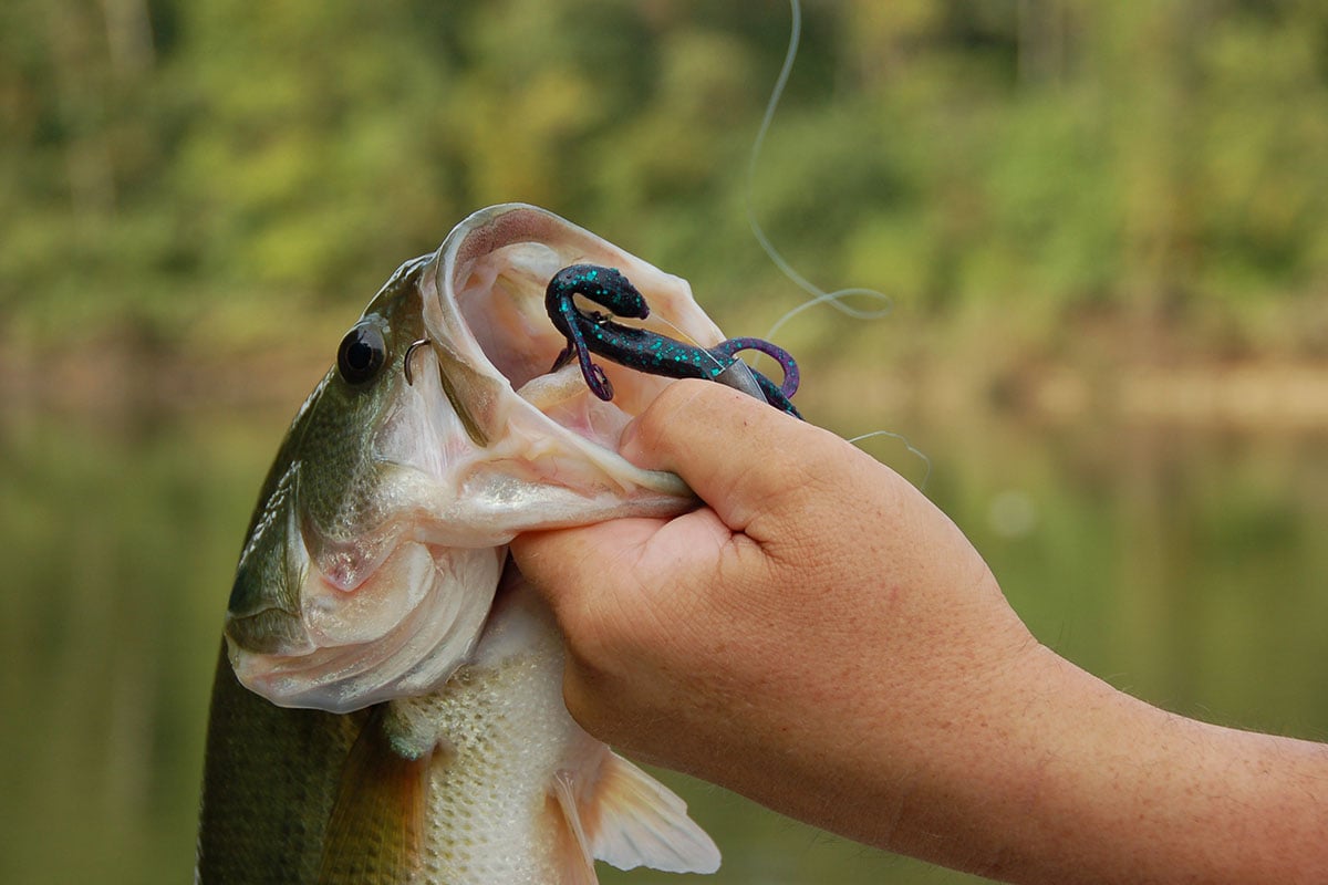
[{"label": "dark amber fin on fish's side, directly below the gill cover", "polygon": [[418,869],[430,755],[408,759],[392,748],[386,709],[373,707],[347,756],[319,885],[408,882]]}]

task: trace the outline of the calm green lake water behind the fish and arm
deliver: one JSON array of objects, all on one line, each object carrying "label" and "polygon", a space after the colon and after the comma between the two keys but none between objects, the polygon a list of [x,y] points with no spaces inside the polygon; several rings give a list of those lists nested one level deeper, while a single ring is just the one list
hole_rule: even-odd
[{"label": "calm green lake water behind the fish and arm", "polygon": [[[0,413],[0,881],[190,880],[220,617],[295,405]],[[1042,641],[1171,710],[1328,736],[1323,437],[875,423],[928,452],[927,494]],[[870,450],[922,478],[898,442]],[[724,868],[606,882],[979,881],[668,780]]]}]

